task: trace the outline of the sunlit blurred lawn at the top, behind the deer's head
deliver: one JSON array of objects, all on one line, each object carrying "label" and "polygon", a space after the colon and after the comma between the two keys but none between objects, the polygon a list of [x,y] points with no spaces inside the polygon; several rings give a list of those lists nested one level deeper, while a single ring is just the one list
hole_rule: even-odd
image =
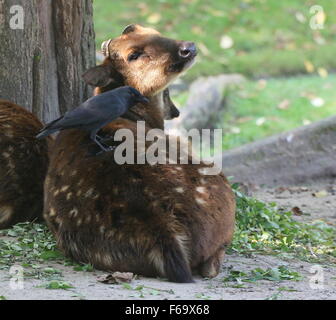
[{"label": "sunlit blurred lawn at the top, behind the deer's head", "polygon": [[124,26],[139,23],[168,37],[196,42],[199,62],[187,73],[189,79],[228,72],[264,77],[333,70],[336,5],[318,1],[325,13],[324,29],[312,30],[309,10],[315,4],[311,0],[94,0],[97,47],[120,35]]}]

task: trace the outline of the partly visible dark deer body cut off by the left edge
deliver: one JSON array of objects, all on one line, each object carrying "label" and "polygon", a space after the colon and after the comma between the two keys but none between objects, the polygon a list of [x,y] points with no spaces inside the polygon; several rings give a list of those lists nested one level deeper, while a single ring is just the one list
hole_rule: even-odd
[{"label": "partly visible dark deer body cut off by the left edge", "polygon": [[0,100],[0,229],[42,218],[52,143],[35,139],[42,127],[29,111]]}]

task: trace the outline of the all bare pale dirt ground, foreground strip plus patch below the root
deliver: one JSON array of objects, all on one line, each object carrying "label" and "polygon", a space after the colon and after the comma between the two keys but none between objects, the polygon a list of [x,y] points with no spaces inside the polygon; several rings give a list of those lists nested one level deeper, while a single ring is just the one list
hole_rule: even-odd
[{"label": "all bare pale dirt ground, foreground strip plus patch below the root", "polygon": [[[323,219],[336,225],[336,190],[332,187],[296,187],[249,190],[255,197],[265,201],[277,202],[291,209],[298,207],[303,215],[298,219],[312,221]],[[248,272],[257,267],[266,269],[285,265],[299,272],[300,281],[257,281],[243,283],[242,288],[228,286],[223,279],[230,270]],[[212,280],[195,278],[193,284],[174,284],[161,279],[138,278],[128,286],[103,284],[97,278],[104,273],[99,271],[74,271],[72,267],[48,264],[62,271],[62,280],[73,288],[50,290],[39,286],[44,280],[26,279],[24,288],[12,290],[8,272],[0,271],[0,296],[6,299],[336,299],[336,266],[312,265],[298,260],[283,260],[273,256],[253,255],[243,257],[228,255],[222,272]],[[318,271],[316,271],[318,270]],[[320,281],[316,283],[316,272]],[[140,290],[139,286],[143,286]],[[138,289],[138,290],[136,290]]]}]

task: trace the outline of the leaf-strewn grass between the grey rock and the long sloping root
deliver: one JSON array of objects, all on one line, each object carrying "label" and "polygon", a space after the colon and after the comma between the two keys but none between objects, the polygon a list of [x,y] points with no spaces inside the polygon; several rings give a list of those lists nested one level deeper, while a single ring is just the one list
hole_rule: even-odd
[{"label": "leaf-strewn grass between the grey rock and the long sloping root", "polygon": [[247,81],[226,96],[218,124],[231,149],[335,115],[336,76]]}]

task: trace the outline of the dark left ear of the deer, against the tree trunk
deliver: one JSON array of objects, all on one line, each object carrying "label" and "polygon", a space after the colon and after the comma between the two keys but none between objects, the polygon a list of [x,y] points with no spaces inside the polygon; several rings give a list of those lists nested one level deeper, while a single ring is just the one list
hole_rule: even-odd
[{"label": "dark left ear of the deer, against the tree trunk", "polygon": [[115,86],[123,84],[122,75],[111,64],[102,64],[93,67],[83,74],[84,81],[94,87],[106,87],[112,82]]}]

